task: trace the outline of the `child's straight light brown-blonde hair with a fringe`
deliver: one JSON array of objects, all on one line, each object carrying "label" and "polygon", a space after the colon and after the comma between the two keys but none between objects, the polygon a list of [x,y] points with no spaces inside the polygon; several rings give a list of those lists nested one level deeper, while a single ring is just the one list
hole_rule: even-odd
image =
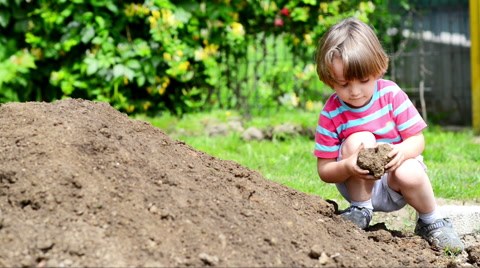
[{"label": "child's straight light brown-blonde hair with a fringe", "polygon": [[330,27],[316,52],[318,77],[333,88],[333,59],[343,62],[346,81],[381,77],[388,68],[388,56],[373,30],[356,18],[343,19]]}]

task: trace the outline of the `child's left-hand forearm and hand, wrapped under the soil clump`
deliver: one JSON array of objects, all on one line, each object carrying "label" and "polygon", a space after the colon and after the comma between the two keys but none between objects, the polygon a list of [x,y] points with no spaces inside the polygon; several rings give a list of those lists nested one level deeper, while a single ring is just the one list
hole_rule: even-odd
[{"label": "child's left-hand forearm and hand, wrapped under the soil clump", "polygon": [[348,158],[337,161],[335,158],[318,158],[317,170],[320,179],[326,183],[340,183],[346,181],[348,178],[355,176],[361,179],[376,180],[372,175],[369,175],[368,170],[361,169],[357,165],[357,157],[363,144],[358,147],[357,151]]}]

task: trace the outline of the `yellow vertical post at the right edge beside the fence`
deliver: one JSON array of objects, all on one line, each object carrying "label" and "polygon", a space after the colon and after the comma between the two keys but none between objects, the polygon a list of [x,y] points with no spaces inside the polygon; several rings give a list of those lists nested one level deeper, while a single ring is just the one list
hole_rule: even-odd
[{"label": "yellow vertical post at the right edge beside the fence", "polygon": [[480,135],[480,1],[470,0],[470,62],[472,70],[472,125]]}]

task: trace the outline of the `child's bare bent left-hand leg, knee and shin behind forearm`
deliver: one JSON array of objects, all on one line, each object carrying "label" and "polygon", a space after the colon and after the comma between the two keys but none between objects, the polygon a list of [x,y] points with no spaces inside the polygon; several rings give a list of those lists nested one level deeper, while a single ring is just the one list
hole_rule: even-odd
[{"label": "child's bare bent left-hand leg, knee and shin behind forearm", "polygon": [[[347,158],[354,154],[362,143],[365,148],[376,147],[375,136],[370,132],[357,132],[350,135],[342,144],[342,158]],[[354,202],[370,200],[374,183],[374,180],[368,181],[355,177],[350,177],[345,181],[348,195]]]}]

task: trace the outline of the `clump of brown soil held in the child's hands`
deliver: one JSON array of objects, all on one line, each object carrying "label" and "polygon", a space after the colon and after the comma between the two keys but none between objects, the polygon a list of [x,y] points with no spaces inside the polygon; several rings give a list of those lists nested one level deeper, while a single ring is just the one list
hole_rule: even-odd
[{"label": "clump of brown soil held in the child's hands", "polygon": [[357,165],[370,171],[376,178],[385,174],[385,165],[392,160],[388,153],[392,147],[388,144],[380,144],[376,148],[364,148],[358,153]]}]

